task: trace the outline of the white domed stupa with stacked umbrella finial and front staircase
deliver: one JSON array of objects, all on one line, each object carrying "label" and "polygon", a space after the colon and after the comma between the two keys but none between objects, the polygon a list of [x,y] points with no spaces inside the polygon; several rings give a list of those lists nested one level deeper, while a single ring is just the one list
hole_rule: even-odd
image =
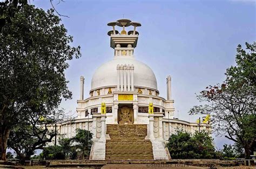
[{"label": "white domed stupa with stacked umbrella finial and front staircase", "polygon": [[[166,98],[160,97],[151,67],[136,59],[136,29],[142,24],[119,19],[107,25],[112,26],[107,35],[113,58],[95,71],[89,98],[84,98],[84,77],[80,77],[77,118],[58,124],[57,131],[68,138],[77,128],[91,131],[92,160],[171,159],[165,147],[170,135],[177,127],[193,133],[199,125],[173,118],[171,76],[166,78]],[[210,126],[201,124],[201,130]]]}]

